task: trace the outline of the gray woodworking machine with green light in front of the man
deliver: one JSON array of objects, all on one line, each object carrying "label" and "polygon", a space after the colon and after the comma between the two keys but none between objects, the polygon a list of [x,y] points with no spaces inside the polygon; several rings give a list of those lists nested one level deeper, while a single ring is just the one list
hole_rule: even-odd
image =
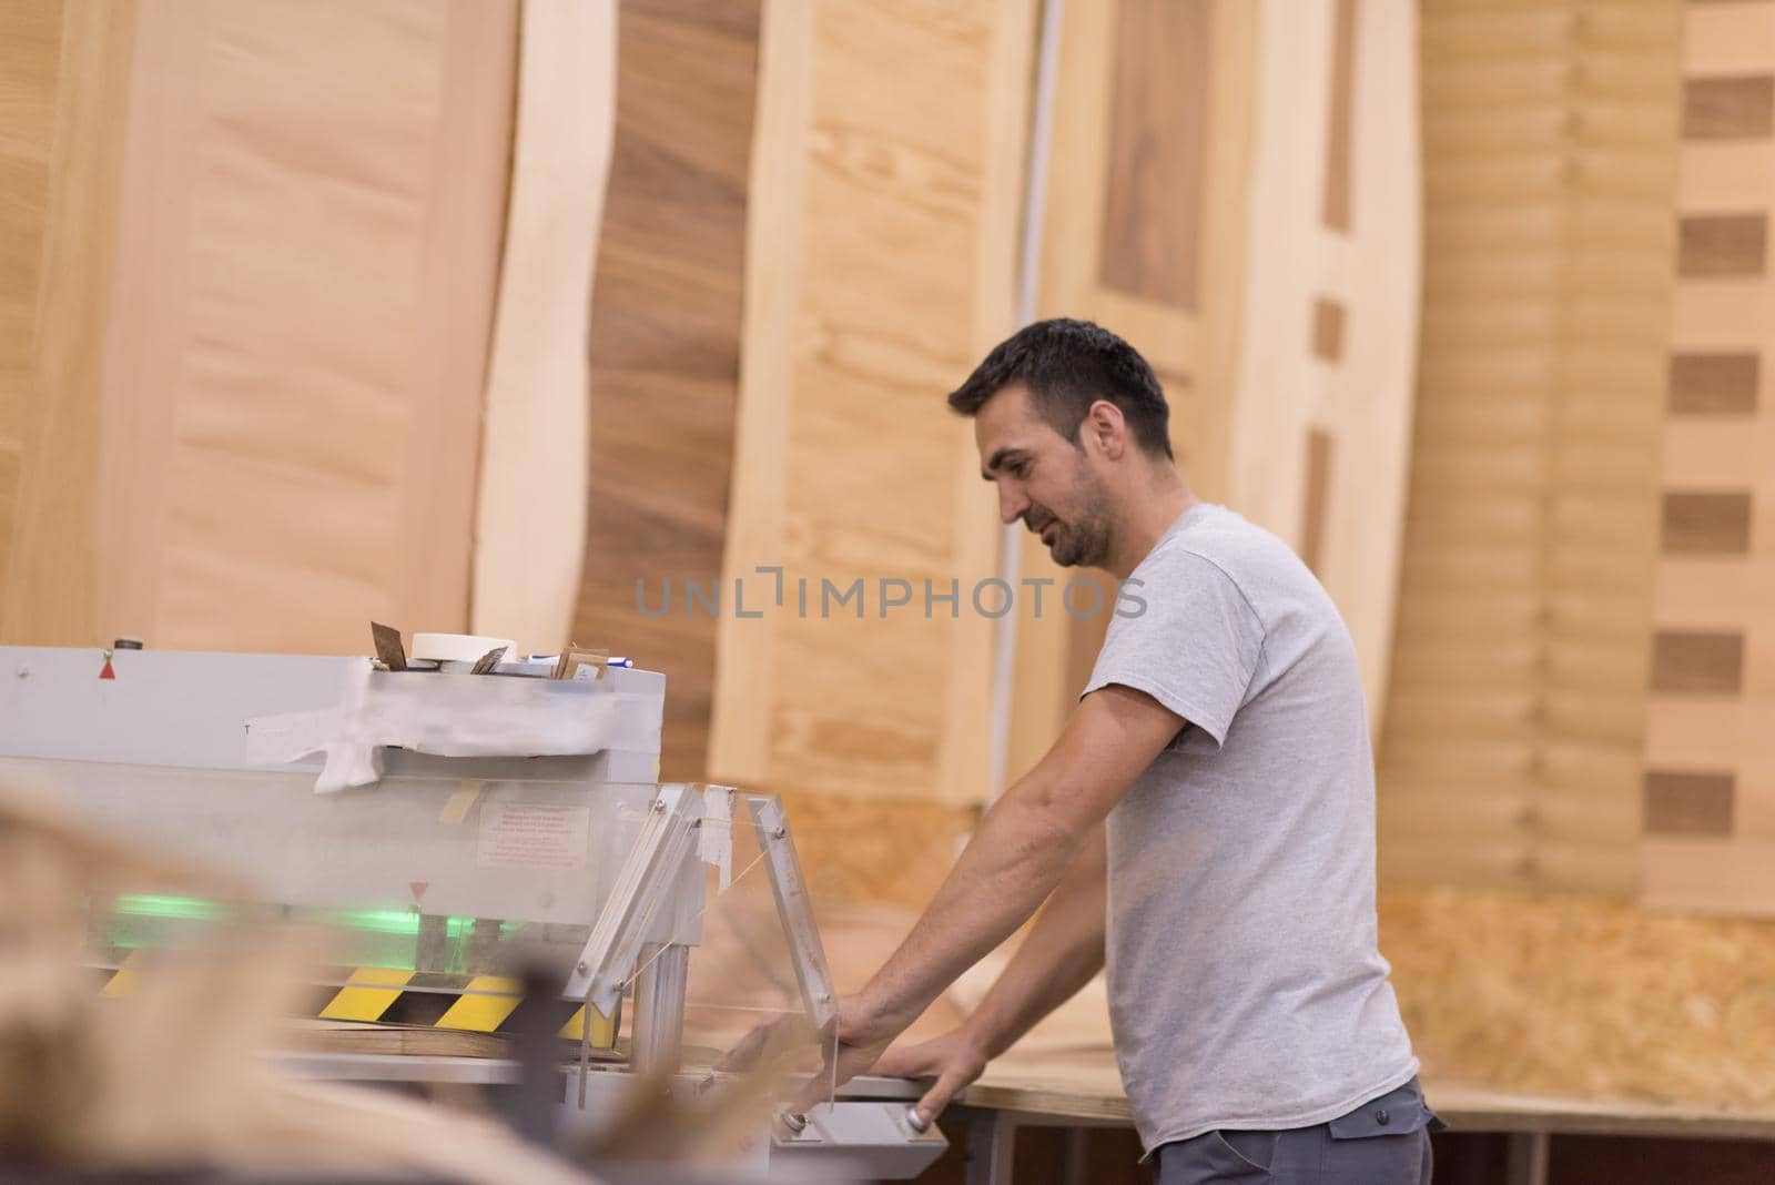
[{"label": "gray woodworking machine with green light in front of the man", "polygon": [[[559,1043],[570,1123],[614,1114],[635,1075],[682,1091],[717,1079],[680,1063],[690,953],[730,880],[769,882],[774,949],[792,967],[785,1008],[824,1031],[836,997],[783,805],[659,784],[666,676],[593,662],[563,678],[552,656],[509,653],[467,667],[0,647],[0,795],[231,878],[254,908],[335,935],[321,1016],[389,1020],[376,1009],[431,992],[451,1001],[446,1018],[497,1031],[490,1018],[517,1008],[515,963],[552,969],[561,1032],[579,1038]],[[96,961],[124,969],[217,912],[124,898],[94,933]],[[456,1057],[288,1061],[359,1080],[502,1073],[497,1059],[469,1071]],[[905,1084],[861,1093],[781,1116],[735,1171],[911,1178],[941,1155]]]}]

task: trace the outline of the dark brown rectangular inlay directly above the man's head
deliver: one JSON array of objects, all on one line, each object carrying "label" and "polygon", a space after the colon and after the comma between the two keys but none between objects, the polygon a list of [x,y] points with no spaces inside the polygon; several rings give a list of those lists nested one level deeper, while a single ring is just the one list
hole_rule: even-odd
[{"label": "dark brown rectangular inlay directly above the man's head", "polygon": [[[1196,309],[1212,0],[1118,0],[1100,280]],[[1111,326],[1115,328],[1115,326]]]}]

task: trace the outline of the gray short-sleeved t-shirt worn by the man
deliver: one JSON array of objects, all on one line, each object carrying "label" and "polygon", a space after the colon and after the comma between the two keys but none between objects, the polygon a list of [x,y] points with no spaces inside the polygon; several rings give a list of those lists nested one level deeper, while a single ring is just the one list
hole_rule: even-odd
[{"label": "gray short-sleeved t-shirt worn by the man", "polygon": [[1109,1013],[1141,1144],[1312,1126],[1408,1082],[1331,598],[1273,534],[1198,504],[1118,605],[1085,694],[1120,683],[1189,722],[1108,823]]}]

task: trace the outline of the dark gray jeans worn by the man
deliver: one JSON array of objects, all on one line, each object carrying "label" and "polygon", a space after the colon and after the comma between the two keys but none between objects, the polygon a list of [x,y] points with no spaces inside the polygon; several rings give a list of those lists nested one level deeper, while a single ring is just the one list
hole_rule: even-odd
[{"label": "dark gray jeans worn by the man", "polygon": [[1159,1185],[1429,1185],[1431,1132],[1441,1126],[1411,1079],[1317,1126],[1164,1144]]}]

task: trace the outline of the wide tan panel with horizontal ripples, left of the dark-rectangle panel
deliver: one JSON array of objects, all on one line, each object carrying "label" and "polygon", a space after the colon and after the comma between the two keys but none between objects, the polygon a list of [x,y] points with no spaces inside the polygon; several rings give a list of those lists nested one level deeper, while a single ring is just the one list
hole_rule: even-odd
[{"label": "wide tan panel with horizontal ripples, left of the dark-rectangle panel", "polygon": [[1637,887],[1681,16],[1424,9],[1383,883]]}]

